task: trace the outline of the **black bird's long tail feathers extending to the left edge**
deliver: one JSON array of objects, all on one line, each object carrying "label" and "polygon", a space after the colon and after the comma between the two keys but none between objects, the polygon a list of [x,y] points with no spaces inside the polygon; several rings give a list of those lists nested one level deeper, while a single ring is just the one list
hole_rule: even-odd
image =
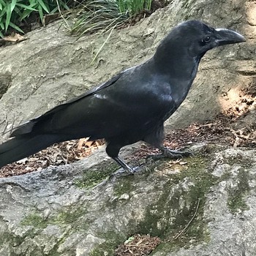
[{"label": "black bird's long tail feathers extending to the left edge", "polygon": [[0,168],[60,142],[58,135],[19,135],[0,145]]}]

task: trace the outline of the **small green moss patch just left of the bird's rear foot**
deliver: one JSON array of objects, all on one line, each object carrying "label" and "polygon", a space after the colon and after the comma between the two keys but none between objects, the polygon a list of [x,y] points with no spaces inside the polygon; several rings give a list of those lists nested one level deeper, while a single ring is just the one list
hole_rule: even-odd
[{"label": "small green moss patch just left of the bird's rear foot", "polygon": [[89,189],[104,181],[116,170],[118,170],[118,165],[115,162],[110,162],[108,165],[103,163],[95,165],[91,169],[85,170],[82,178],[75,180],[75,185],[82,189]]}]

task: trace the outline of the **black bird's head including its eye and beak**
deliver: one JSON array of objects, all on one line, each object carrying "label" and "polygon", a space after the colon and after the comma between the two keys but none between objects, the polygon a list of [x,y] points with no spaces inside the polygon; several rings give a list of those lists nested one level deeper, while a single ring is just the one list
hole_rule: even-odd
[{"label": "black bird's head including its eye and beak", "polygon": [[214,29],[199,20],[188,20],[174,27],[162,40],[155,59],[167,64],[188,57],[199,63],[203,55],[220,45],[245,42],[244,37],[230,29]]}]

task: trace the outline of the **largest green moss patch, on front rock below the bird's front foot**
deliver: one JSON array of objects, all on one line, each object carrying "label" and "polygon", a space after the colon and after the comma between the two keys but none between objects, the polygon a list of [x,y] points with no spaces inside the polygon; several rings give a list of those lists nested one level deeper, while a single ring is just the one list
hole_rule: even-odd
[{"label": "largest green moss patch, on front rock below the bird's front foot", "polygon": [[[149,206],[143,222],[140,222],[136,233],[150,233],[151,236],[159,236],[168,242],[169,251],[177,247],[185,246],[189,241],[200,242],[208,241],[209,235],[206,223],[203,222],[203,206],[206,203],[206,195],[211,186],[217,183],[218,179],[208,172],[208,159],[203,157],[193,157],[184,159],[187,165],[169,165],[168,162],[162,162],[158,169],[160,170],[178,170],[175,173],[168,172],[170,178],[165,183],[162,190],[162,196],[157,204]],[[189,189],[178,187],[172,197],[170,191],[173,186],[179,186],[181,181],[187,179],[191,184]],[[200,202],[198,208],[197,203]],[[181,202],[186,202],[182,205]],[[172,206],[173,211],[170,211]],[[189,224],[184,234],[173,240],[192,219],[197,208],[196,217]],[[162,245],[162,246],[163,246]],[[162,247],[160,246],[160,247]],[[159,248],[160,248],[159,247]]]}]

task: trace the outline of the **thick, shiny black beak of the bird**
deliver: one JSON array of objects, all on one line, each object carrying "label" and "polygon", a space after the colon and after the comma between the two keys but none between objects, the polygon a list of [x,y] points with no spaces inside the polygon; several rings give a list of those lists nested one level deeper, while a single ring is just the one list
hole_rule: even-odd
[{"label": "thick, shiny black beak of the bird", "polygon": [[214,34],[216,37],[217,46],[236,44],[238,42],[246,41],[241,34],[229,29],[215,29]]}]

